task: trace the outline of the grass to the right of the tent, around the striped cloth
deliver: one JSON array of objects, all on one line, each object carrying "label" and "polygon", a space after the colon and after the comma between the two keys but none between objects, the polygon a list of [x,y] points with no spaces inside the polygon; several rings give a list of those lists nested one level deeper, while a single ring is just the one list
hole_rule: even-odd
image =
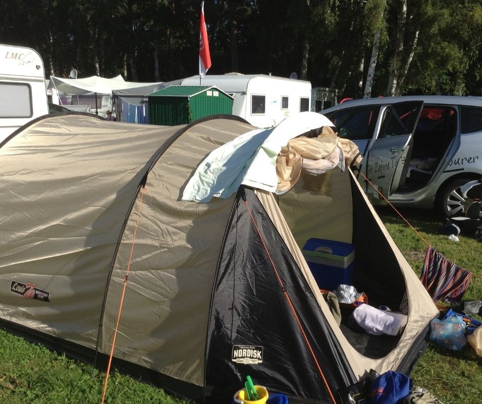
[{"label": "grass to the right of the tent, around the striped cloth", "polygon": [[[459,241],[451,241],[437,233],[441,222],[431,211],[404,209],[399,212],[419,232],[412,230],[389,207],[377,212],[400,251],[420,275],[427,243],[447,259],[473,273],[463,301],[482,300],[482,243],[474,237],[459,235]],[[424,241],[425,239],[425,241]],[[463,311],[460,305],[444,305],[454,311]],[[480,320],[479,316],[473,315]],[[482,402],[482,359],[467,345],[460,351],[451,351],[430,342],[424,356],[418,361],[411,375],[415,385],[425,387],[445,404]]]}]

